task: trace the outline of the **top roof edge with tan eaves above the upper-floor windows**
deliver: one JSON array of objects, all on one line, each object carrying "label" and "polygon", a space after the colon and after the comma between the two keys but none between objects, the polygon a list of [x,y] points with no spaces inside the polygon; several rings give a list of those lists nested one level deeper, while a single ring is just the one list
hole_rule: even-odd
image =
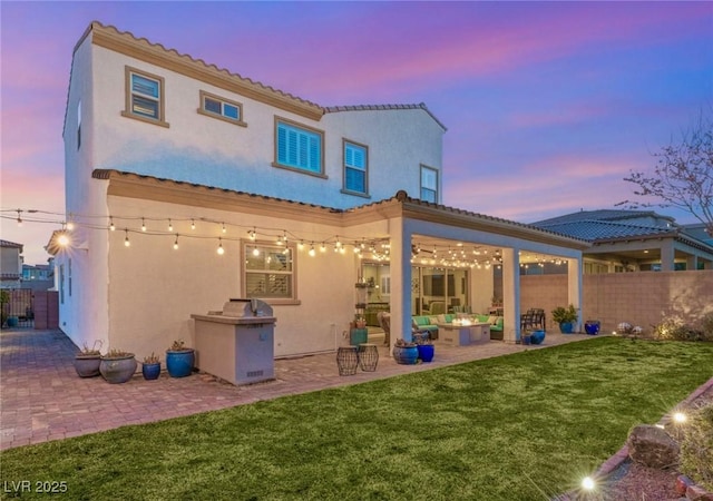
[{"label": "top roof edge with tan eaves above the upper-floor windows", "polygon": [[[130,31],[119,31],[117,28],[113,26],[105,26],[99,21],[92,21],[89,23],[87,30],[77,41],[74,52],[77,51],[90,33],[92,36],[91,42],[99,47],[144,60],[152,65],[165,67],[183,75],[188,75],[197,80],[206,81],[226,90],[234,91],[276,108],[302,115],[313,120],[320,120],[324,114],[338,111],[423,109],[440,127],[443,128],[443,130],[446,130],[443,124],[438,120],[423,104],[323,107],[292,94],[275,89],[274,87],[266,86],[260,81],[228,71],[227,69],[218,68],[216,65],[207,63],[203,59],[195,59],[192,56],[180,53],[175,49],[167,49],[162,43],[153,43],[146,38],[137,38]],[[65,115],[66,114],[67,110],[65,110]]]}]

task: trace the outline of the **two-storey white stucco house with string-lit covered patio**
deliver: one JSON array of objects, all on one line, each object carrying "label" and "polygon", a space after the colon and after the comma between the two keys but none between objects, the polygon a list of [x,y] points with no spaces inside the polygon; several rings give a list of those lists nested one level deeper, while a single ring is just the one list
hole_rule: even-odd
[{"label": "two-storey white stucco house with string-lit covered patio", "polygon": [[586,242],[442,205],[445,131],[422,104],[321,107],[92,22],[65,116],[70,220],[48,245],[60,327],[143,356],[192,344],[191,314],[258,297],[277,356],[325,352],[355,283],[393,342],[431,305],[487,311],[499,265],[515,342],[530,255],[564,263],[580,305]]}]

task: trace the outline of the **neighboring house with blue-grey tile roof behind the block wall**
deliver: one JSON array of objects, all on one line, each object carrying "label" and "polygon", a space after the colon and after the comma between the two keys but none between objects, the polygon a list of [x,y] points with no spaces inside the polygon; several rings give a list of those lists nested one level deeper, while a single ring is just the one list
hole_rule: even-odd
[{"label": "neighboring house with blue-grey tile roof behind the block wall", "polygon": [[533,225],[592,243],[585,273],[713,269],[703,225],[681,226],[651,210],[582,210]]}]

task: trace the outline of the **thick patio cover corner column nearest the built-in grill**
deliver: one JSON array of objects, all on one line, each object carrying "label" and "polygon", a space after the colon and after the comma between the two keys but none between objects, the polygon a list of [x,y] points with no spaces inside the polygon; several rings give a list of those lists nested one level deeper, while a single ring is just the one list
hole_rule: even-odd
[{"label": "thick patio cover corner column nearest the built-in grill", "polygon": [[391,344],[411,341],[411,232],[403,218],[389,222],[391,233]]}]

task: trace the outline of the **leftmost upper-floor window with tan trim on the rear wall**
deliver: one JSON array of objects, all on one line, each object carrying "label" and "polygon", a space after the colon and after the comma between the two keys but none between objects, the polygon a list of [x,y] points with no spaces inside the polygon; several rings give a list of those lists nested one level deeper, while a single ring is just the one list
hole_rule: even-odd
[{"label": "leftmost upper-floor window with tan trim on the rear wall", "polygon": [[164,79],[126,67],[125,117],[168,127],[165,121]]}]

